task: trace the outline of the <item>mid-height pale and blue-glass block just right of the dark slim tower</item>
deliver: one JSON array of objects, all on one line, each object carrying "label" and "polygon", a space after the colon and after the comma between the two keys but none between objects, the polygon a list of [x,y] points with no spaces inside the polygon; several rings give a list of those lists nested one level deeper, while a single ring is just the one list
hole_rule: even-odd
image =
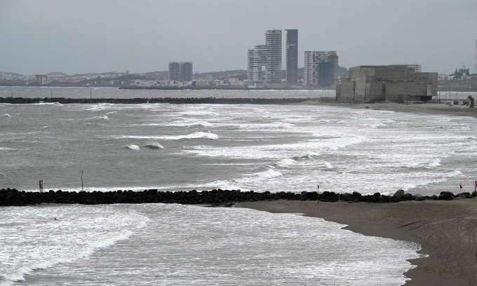
[{"label": "mid-height pale and blue-glass block just right of the dark slim tower", "polygon": [[338,55],[336,51],[305,51],[303,83],[305,86],[336,86],[338,83]]}]

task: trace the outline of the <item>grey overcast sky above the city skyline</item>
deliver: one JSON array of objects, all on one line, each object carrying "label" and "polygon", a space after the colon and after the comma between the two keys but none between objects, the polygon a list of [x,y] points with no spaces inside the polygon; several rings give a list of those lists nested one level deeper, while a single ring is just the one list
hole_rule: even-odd
[{"label": "grey overcast sky above the city skyline", "polygon": [[0,71],[247,69],[248,48],[272,28],[283,46],[298,29],[299,67],[305,50],[336,50],[342,67],[475,72],[477,0],[0,0]]}]

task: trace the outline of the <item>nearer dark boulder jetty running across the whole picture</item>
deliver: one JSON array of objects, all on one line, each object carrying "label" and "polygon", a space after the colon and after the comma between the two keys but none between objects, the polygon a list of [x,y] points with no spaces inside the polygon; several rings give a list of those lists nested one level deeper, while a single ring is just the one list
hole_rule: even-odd
[{"label": "nearer dark boulder jetty running across the whole picture", "polygon": [[419,196],[398,190],[393,196],[385,196],[381,193],[361,195],[361,193],[323,193],[307,192],[292,193],[265,191],[222,190],[211,191],[158,191],[149,189],[145,191],[44,191],[42,193],[32,191],[18,191],[16,189],[0,190],[0,206],[36,205],[39,203],[65,203],[65,204],[113,204],[113,203],[180,203],[184,205],[224,205],[231,206],[239,202],[253,202],[259,200],[320,200],[323,202],[344,201],[349,203],[398,203],[405,200],[455,200],[463,198],[475,198],[477,192],[453,193],[443,191],[439,196]]}]

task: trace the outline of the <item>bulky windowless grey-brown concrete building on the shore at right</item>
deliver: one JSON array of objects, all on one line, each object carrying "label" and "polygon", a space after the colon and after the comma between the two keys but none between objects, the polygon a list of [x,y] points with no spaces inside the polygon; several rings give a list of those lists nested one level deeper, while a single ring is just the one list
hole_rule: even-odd
[{"label": "bulky windowless grey-brown concrete building on the shore at right", "polygon": [[349,68],[336,86],[341,102],[427,102],[437,96],[437,73],[415,72],[406,65]]}]

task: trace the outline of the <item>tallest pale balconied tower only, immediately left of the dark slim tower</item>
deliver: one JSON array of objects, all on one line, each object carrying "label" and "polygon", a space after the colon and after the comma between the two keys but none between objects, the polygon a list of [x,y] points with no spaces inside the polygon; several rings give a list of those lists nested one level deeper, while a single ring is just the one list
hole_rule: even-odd
[{"label": "tallest pale balconied tower only, immediately left of the dark slim tower", "polygon": [[265,33],[267,46],[267,83],[281,83],[281,30],[271,29]]}]

